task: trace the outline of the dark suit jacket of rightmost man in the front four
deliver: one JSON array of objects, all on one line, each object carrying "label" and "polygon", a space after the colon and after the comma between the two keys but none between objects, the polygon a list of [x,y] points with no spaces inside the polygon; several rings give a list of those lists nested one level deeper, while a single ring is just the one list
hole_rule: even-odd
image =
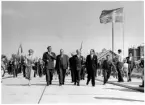
[{"label": "dark suit jacket of rightmost man in the front four", "polygon": [[91,55],[88,55],[86,58],[87,71],[96,70],[97,66],[98,66],[97,56],[93,55],[93,58],[91,58]]}]

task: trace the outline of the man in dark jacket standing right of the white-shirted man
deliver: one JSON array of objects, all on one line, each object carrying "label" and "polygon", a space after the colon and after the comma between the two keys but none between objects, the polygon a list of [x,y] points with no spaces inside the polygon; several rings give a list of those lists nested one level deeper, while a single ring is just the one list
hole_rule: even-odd
[{"label": "man in dark jacket standing right of the white-shirted man", "polygon": [[129,57],[126,58],[127,59],[127,63],[128,63],[128,82],[131,81],[131,73],[133,71],[133,68],[135,66],[135,62],[134,62],[134,57],[132,56],[132,53],[129,53]]}]

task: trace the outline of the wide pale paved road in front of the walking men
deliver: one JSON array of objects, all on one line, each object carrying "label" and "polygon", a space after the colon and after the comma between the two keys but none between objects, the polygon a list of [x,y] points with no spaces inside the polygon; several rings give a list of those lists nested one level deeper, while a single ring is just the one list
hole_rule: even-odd
[{"label": "wide pale paved road in front of the walking men", "polygon": [[64,86],[58,86],[58,80],[46,87],[45,77],[33,78],[32,85],[22,76],[6,78],[2,82],[2,104],[47,104],[47,103],[133,103],[144,104],[144,93],[111,84],[102,85],[96,81],[96,87],[91,83],[86,86],[86,80],[81,86],[74,86],[70,77],[66,78]]}]

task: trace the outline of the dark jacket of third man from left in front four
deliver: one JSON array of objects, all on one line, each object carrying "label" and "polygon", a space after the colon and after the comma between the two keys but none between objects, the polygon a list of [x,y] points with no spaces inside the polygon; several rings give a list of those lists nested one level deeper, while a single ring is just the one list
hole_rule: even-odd
[{"label": "dark jacket of third man from left in front four", "polygon": [[82,64],[83,64],[83,57],[82,56],[80,56],[78,58],[77,55],[74,55],[73,62],[74,62],[74,69],[75,70],[81,70],[82,69]]}]

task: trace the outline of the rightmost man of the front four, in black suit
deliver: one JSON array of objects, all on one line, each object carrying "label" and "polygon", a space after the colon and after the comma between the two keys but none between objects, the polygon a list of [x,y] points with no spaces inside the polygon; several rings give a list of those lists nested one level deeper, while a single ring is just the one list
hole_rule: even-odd
[{"label": "rightmost man of the front four, in black suit", "polygon": [[86,58],[86,68],[88,73],[87,85],[89,84],[89,81],[92,79],[92,86],[95,86],[95,73],[97,70],[97,65],[98,65],[97,56],[95,55],[95,51],[91,49],[90,55],[88,55]]}]

